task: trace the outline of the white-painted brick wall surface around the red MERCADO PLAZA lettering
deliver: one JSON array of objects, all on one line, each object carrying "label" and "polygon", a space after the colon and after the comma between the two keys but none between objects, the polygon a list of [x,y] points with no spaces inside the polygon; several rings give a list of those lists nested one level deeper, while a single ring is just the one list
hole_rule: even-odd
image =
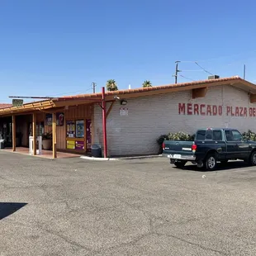
[{"label": "white-painted brick wall surface around the red MERCADO PLAZA lettering", "polygon": [[[256,131],[256,117],[226,116],[226,107],[256,107],[249,103],[247,92],[228,86],[211,88],[206,97],[192,99],[192,91],[173,92],[116,102],[107,117],[109,155],[157,154],[156,139],[168,132],[193,134],[201,127],[233,127],[241,132]],[[188,116],[178,114],[178,103],[209,104],[223,107],[222,116]],[[110,104],[109,104],[110,105]],[[109,106],[108,105],[108,106]],[[120,116],[120,107],[129,108],[129,116]],[[94,107],[94,143],[102,145],[102,109]]]}]

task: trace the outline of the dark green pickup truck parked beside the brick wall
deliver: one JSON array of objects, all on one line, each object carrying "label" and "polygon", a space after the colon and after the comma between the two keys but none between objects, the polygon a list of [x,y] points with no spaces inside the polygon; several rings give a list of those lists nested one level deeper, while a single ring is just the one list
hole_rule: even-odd
[{"label": "dark green pickup truck parked beside the brick wall", "polygon": [[170,164],[178,168],[191,162],[198,168],[214,170],[217,162],[227,163],[231,159],[256,165],[256,142],[243,140],[239,130],[230,128],[197,130],[194,141],[164,140],[163,150]]}]

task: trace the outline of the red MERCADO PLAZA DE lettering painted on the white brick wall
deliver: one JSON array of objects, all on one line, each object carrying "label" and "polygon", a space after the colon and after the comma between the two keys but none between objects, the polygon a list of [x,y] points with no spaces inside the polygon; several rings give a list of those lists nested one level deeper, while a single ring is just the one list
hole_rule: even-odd
[{"label": "red MERCADO PLAZA DE lettering painted on the white brick wall", "polygon": [[209,104],[178,103],[178,114],[188,116],[256,116],[256,107],[217,106]]}]

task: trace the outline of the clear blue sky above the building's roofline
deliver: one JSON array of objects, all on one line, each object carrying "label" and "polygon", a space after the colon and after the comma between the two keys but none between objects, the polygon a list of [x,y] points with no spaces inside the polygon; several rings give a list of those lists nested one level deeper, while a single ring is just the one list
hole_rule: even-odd
[{"label": "clear blue sky above the building's roofline", "polygon": [[[256,83],[256,2],[145,0],[0,1],[0,102],[220,77]],[[190,61],[190,62],[186,62]],[[197,71],[185,71],[197,70]],[[188,82],[178,77],[178,82]]]}]

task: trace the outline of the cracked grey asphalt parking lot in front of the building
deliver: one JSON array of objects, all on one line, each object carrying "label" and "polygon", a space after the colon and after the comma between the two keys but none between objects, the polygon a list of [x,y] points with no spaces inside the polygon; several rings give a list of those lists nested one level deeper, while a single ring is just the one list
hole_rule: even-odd
[{"label": "cracked grey asphalt parking lot in front of the building", "polygon": [[0,152],[0,255],[256,255],[256,168]]}]

